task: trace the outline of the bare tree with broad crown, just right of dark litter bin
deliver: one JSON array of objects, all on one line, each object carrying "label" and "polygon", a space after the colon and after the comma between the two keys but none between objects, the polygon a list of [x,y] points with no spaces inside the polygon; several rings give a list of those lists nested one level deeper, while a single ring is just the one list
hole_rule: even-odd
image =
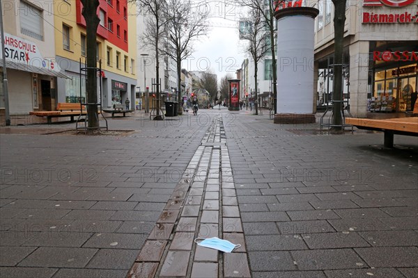
[{"label": "bare tree with broad crown, just right of dark litter bin", "polygon": [[[177,97],[181,102],[181,62],[192,54],[192,43],[201,35],[206,35],[208,26],[208,10],[201,11],[192,8],[190,1],[167,0],[167,9],[164,11],[165,18],[169,21],[165,26],[167,44],[160,51],[176,61],[177,67]],[[183,110],[178,105],[178,113]]]}]

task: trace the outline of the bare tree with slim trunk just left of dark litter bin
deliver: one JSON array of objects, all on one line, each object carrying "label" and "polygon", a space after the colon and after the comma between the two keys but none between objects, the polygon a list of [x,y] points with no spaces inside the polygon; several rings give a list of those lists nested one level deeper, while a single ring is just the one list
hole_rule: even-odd
[{"label": "bare tree with slim trunk just left of dark litter bin", "polygon": [[142,42],[144,45],[153,47],[155,50],[155,79],[157,86],[155,93],[157,95],[157,113],[154,120],[162,120],[163,117],[160,115],[160,47],[162,44],[161,38],[164,36],[164,26],[167,25],[169,19],[164,17],[164,11],[167,10],[166,0],[130,0],[136,2],[139,9],[145,16],[145,32],[142,35]]}]

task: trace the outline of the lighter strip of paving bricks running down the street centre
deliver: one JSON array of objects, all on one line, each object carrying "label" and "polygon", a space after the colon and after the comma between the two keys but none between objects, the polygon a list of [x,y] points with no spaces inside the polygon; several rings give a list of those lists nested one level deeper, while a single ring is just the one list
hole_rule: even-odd
[{"label": "lighter strip of paving bricks running down the street centre", "polygon": [[[194,243],[212,237],[241,247],[223,253]],[[127,277],[251,277],[222,115],[206,131]]]}]

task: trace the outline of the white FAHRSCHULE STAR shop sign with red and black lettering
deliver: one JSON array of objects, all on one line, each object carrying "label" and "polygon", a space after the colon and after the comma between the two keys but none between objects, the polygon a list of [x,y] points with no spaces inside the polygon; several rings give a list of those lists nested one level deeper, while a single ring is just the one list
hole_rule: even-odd
[{"label": "white FAHRSCHULE STAR shop sign with red and black lettering", "polygon": [[[43,70],[52,70],[55,72],[60,72],[61,70],[52,60],[42,57],[36,43],[16,37],[15,35],[4,33],[4,52],[6,60],[13,63],[31,65],[33,67],[40,67]],[[3,59],[1,51],[0,58]]]}]

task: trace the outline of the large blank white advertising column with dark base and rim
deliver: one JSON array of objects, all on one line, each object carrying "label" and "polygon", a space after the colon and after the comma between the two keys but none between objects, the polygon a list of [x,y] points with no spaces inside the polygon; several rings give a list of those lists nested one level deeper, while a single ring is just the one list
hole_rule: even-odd
[{"label": "large blank white advertising column with dark base and rim", "polygon": [[315,122],[314,24],[316,8],[277,10],[276,124]]}]

